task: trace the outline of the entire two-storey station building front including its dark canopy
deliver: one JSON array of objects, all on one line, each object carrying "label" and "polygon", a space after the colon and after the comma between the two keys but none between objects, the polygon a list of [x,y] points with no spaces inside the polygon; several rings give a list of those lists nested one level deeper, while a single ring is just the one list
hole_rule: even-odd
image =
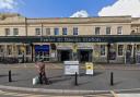
[{"label": "entire two-storey station building front including its dark canopy", "polygon": [[139,17],[27,19],[1,13],[0,61],[137,63],[139,34]]}]

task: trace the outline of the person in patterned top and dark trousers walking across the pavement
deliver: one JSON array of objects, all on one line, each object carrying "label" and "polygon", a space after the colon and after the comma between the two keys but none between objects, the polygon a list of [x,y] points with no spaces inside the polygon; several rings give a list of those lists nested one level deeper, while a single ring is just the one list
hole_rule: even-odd
[{"label": "person in patterned top and dark trousers walking across the pavement", "polygon": [[37,62],[35,63],[35,66],[36,66],[37,72],[38,72],[39,83],[40,84],[48,84],[48,78],[47,78],[46,72],[45,72],[44,60],[43,59],[37,60]]}]

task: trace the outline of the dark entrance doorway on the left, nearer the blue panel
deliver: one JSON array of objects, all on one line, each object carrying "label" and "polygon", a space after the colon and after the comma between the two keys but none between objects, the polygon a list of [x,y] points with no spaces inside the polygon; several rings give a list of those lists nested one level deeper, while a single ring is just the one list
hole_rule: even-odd
[{"label": "dark entrance doorway on the left, nearer the blue panel", "polygon": [[72,58],[71,50],[58,50],[58,61],[69,61]]}]

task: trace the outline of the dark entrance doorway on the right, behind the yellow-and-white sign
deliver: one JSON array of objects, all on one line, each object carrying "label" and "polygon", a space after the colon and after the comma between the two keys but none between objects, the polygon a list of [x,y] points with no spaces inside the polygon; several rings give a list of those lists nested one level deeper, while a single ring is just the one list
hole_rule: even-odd
[{"label": "dark entrance doorway on the right, behind the yellow-and-white sign", "polygon": [[90,49],[78,50],[78,59],[80,62],[91,62],[92,61],[92,50],[90,50]]}]

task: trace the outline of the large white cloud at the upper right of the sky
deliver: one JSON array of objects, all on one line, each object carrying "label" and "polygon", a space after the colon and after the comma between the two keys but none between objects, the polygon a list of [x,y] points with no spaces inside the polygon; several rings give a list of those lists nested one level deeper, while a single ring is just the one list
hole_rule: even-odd
[{"label": "large white cloud at the upper right of the sky", "polygon": [[117,0],[113,5],[104,7],[100,16],[131,15],[140,17],[140,0]]}]

